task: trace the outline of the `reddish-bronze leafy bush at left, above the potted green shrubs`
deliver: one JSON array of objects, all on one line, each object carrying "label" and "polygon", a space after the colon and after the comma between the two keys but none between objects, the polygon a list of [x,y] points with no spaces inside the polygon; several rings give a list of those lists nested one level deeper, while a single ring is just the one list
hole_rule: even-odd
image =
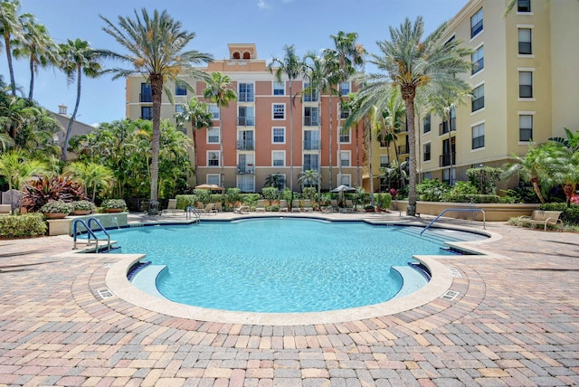
[{"label": "reddish-bronze leafy bush at left, above the potted green shrubs", "polygon": [[51,200],[75,202],[86,200],[81,184],[62,175],[43,175],[24,184],[23,206],[29,212],[37,212]]}]

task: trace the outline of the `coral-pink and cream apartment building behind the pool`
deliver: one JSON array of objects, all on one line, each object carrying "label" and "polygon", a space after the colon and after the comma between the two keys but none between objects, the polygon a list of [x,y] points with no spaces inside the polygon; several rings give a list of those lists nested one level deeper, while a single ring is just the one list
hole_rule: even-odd
[{"label": "coral-pink and cream apartment building behind the pool", "polygon": [[[298,192],[299,174],[309,169],[318,170],[318,165],[324,191],[339,184],[359,184],[359,166],[363,160],[362,130],[352,129],[341,133],[339,127],[349,112],[342,109],[340,99],[334,96],[331,101],[333,133],[330,136],[328,95],[302,93],[308,89],[308,80],[299,79],[292,80],[290,96],[287,77],[281,81],[275,79],[266,61],[258,57],[255,44],[230,43],[228,47],[228,59],[213,61],[202,70],[208,73],[220,71],[229,76],[237,100],[221,110],[214,104],[209,105],[214,114],[214,127],[196,133],[197,155],[190,156],[195,158],[197,168],[190,183],[220,184],[220,140],[223,140],[226,188],[238,187],[243,192],[259,193],[268,176],[275,175],[280,188],[291,186],[291,179],[293,190]],[[197,97],[204,100],[204,82],[187,82],[194,86],[194,92],[179,84],[168,85],[174,88],[175,103],[170,103],[166,95],[163,96],[162,118],[174,119],[180,109],[179,104],[187,99]],[[352,82],[339,85],[343,99],[353,87]],[[293,130],[289,117],[290,104]],[[152,107],[150,85],[146,80],[137,76],[128,78],[127,117],[151,119]],[[219,118],[223,139],[219,138]],[[190,124],[186,124],[185,128],[192,137]],[[341,165],[341,175],[338,163]]]}]

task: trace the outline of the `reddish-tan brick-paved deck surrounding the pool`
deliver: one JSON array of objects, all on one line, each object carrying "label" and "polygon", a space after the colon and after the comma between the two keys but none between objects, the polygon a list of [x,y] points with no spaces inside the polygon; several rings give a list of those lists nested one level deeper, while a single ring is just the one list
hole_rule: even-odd
[{"label": "reddish-tan brick-paved deck surrounding the pool", "polygon": [[384,316],[286,326],[158,313],[107,294],[119,255],[72,254],[65,237],[0,241],[0,386],[579,385],[579,234],[505,222],[487,230],[491,241],[470,243],[487,256],[438,260],[452,294]]}]

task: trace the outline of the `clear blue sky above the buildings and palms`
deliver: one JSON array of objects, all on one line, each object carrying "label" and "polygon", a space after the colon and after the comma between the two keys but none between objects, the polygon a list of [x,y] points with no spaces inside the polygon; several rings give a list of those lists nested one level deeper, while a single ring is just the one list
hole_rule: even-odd
[{"label": "clear blue sky above the buildings and palms", "polygon": [[[227,57],[227,43],[256,44],[258,56],[270,60],[282,55],[285,44],[295,44],[299,55],[331,47],[330,34],[358,33],[358,42],[368,52],[377,52],[376,41],[390,38],[389,27],[398,27],[405,17],[422,15],[426,32],[460,11],[467,0],[21,0],[21,13],[34,14],[55,42],[81,38],[94,48],[121,52],[121,47],[102,31],[100,14],[113,23],[119,15],[134,15],[145,7],[164,10],[195,32],[189,49]],[[105,63],[105,67],[110,63]],[[4,49],[0,73],[9,80]],[[16,82],[28,94],[30,81],[26,61],[14,62]],[[40,71],[34,79],[34,99],[58,111],[65,104],[71,114],[76,98],[75,84],[67,85],[62,71]],[[125,118],[125,81],[83,79],[77,118],[87,124]]]}]

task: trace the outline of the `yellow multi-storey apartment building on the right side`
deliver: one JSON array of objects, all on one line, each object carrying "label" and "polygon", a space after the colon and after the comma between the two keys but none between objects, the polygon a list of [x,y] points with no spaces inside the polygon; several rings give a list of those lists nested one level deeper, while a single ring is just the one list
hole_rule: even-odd
[{"label": "yellow multi-storey apartment building on the right side", "polygon": [[421,178],[468,180],[471,167],[504,165],[530,141],[579,130],[579,2],[518,0],[505,16],[507,4],[470,0],[451,19],[443,42],[474,50],[474,68],[463,75],[472,98],[451,109],[450,122],[421,118]]}]

